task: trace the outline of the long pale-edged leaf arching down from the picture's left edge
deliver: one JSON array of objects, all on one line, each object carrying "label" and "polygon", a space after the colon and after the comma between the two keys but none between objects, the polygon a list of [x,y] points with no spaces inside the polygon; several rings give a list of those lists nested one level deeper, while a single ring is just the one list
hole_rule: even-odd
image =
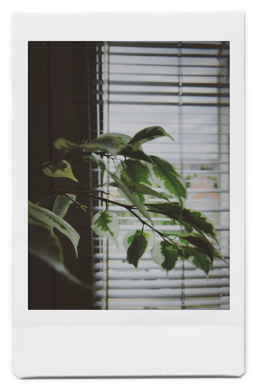
[{"label": "long pale-edged leaf arching down from the picture's left edge", "polygon": [[61,217],[59,217],[58,215],[54,214],[54,212],[39,207],[38,205],[32,204],[30,202],[28,204],[28,214],[29,214],[29,218],[33,220],[36,219],[51,228],[55,227],[64,235],[66,235],[71,240],[77,256],[77,245],[80,236],[77,233],[77,231],[75,231],[73,227],[70,226],[70,224],[68,224],[65,220],[61,219]]}]

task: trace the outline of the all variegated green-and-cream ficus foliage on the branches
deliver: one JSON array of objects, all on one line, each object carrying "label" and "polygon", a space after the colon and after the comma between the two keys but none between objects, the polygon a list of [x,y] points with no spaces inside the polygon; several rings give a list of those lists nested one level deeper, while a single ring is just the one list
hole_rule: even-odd
[{"label": "all variegated green-and-cream ficus foliage on the branches", "polygon": [[[220,251],[215,248],[217,234],[214,225],[202,212],[185,207],[186,182],[174,166],[163,158],[145,154],[142,149],[145,142],[165,136],[173,140],[163,128],[154,126],[144,128],[132,138],[125,134],[108,133],[82,144],[59,138],[54,142],[54,147],[61,151],[60,158],[44,163],[39,170],[54,179],[67,177],[77,181],[70,163],[66,161],[66,155],[72,158],[75,155],[73,153],[76,153],[77,160],[81,157],[83,164],[98,165],[109,178],[108,182],[101,182],[97,187],[117,187],[120,195],[127,200],[127,205],[125,202],[118,203],[94,195],[97,187],[81,191],[86,196],[99,198],[104,205],[103,210],[93,216],[91,228],[94,233],[113,240],[118,247],[119,217],[115,212],[109,212],[108,205],[120,205],[131,212],[143,226],[142,230],[128,231],[123,239],[128,263],[137,268],[151,241],[151,258],[166,272],[172,270],[179,259],[186,259],[208,276],[214,258],[224,261]],[[120,161],[112,173],[106,162],[114,158]],[[76,201],[75,194],[81,193],[80,191],[51,191],[56,194],[37,204],[28,204],[29,252],[72,281],[82,284],[63,265],[62,247],[54,228],[71,240],[77,257],[80,236],[63,218],[73,203],[84,211],[87,207]],[[152,202],[149,197],[156,198],[157,201]],[[179,228],[170,234],[162,233],[154,228],[152,216],[155,214],[165,216]],[[145,231],[146,227],[151,233]],[[156,244],[155,236],[161,238]]]}]

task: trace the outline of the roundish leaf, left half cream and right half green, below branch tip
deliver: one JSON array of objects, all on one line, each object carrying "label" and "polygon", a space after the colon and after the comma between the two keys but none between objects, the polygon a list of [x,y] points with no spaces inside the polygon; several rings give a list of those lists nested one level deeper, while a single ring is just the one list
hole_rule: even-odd
[{"label": "roundish leaf, left half cream and right half green, below branch tip", "polygon": [[151,250],[151,258],[162,269],[172,270],[179,258],[179,252],[176,247],[173,247],[168,242],[162,241],[154,245]]}]

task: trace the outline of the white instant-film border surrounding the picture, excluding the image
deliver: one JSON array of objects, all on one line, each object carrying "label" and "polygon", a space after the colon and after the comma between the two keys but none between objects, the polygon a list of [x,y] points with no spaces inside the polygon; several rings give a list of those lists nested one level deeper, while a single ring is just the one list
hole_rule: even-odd
[{"label": "white instant-film border surrounding the picture, excluding the image", "polygon": [[[28,41],[230,42],[230,309],[28,310]],[[15,13],[14,373],[240,376],[244,371],[244,14]]]}]

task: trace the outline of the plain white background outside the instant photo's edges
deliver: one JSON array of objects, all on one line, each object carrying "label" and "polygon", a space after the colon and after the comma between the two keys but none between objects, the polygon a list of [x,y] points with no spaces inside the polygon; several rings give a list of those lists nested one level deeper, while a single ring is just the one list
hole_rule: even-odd
[{"label": "plain white background outside the instant photo's edges", "polygon": [[[102,5],[103,4],[103,5]],[[181,3],[183,4],[183,3]],[[186,8],[180,7],[170,2],[160,1],[159,6],[151,6],[149,2],[131,1],[127,6],[122,2],[102,2],[84,6],[83,2],[73,1],[73,7],[62,6],[58,2],[44,1],[44,4],[33,4],[30,1],[24,1],[22,4],[18,2],[9,2],[5,6],[5,11],[1,13],[1,173],[3,189],[2,195],[2,212],[1,212],[1,270],[2,277],[0,282],[1,288],[1,312],[0,312],[0,382],[3,387],[13,385],[50,385],[54,387],[61,384],[63,387],[71,385],[93,385],[93,387],[103,387],[103,385],[112,387],[129,387],[129,385],[160,385],[162,387],[171,387],[172,384],[180,384],[183,387],[192,385],[196,387],[212,388],[220,385],[235,385],[235,387],[243,387],[244,385],[252,385],[252,380],[258,381],[257,374],[257,352],[258,352],[258,255],[256,252],[257,231],[256,221],[253,223],[252,218],[258,219],[257,209],[257,188],[258,182],[257,171],[257,145],[258,145],[258,10],[252,7],[252,2],[227,2],[217,1],[217,7],[209,7],[206,2],[185,1]],[[250,4],[250,5],[249,5]],[[3,7],[3,6],[2,6]],[[45,380],[19,380],[12,373],[12,42],[11,42],[11,25],[13,11],[217,11],[228,9],[243,9],[245,11],[245,51],[246,51],[246,196],[247,196],[247,236],[246,236],[246,371],[241,378],[165,378],[157,381],[157,379],[49,379]],[[254,76],[253,74],[256,74]],[[192,382],[190,382],[190,379]],[[71,382],[73,380],[73,383]],[[75,381],[75,382],[74,382]],[[146,382],[144,382],[146,381]],[[223,387],[224,387],[223,386]]]}]

